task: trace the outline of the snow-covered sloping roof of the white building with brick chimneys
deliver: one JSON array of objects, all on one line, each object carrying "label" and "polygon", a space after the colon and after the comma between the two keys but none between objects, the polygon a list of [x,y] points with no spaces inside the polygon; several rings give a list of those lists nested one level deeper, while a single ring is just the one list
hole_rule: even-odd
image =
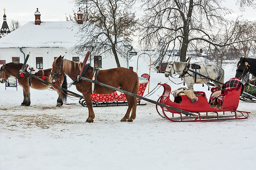
[{"label": "snow-covered sloping roof of the white building with brick chimneys", "polygon": [[74,47],[78,38],[78,26],[73,21],[42,21],[35,25],[35,21],[12,31],[8,36],[0,39],[0,48],[21,47]]}]

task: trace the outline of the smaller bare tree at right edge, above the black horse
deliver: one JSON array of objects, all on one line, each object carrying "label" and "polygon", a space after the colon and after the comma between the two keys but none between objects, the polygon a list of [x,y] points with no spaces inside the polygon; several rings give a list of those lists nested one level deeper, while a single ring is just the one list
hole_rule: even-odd
[{"label": "smaller bare tree at right edge, above the black horse", "polygon": [[213,54],[212,59],[220,66],[225,59],[233,59],[234,56],[241,55],[247,57],[256,41],[254,22],[236,19],[223,25],[224,29],[212,36],[212,41],[215,44],[209,43],[209,50]]}]

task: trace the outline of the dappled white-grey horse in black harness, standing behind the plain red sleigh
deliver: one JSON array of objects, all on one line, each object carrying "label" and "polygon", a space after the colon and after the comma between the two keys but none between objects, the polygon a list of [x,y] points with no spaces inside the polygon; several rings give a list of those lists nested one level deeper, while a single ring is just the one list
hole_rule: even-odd
[{"label": "dappled white-grey horse in black harness, standing behind the plain red sleigh", "polygon": [[[181,75],[186,65],[187,63],[185,62],[178,62],[178,61],[169,62],[164,72],[165,77],[169,77],[175,72]],[[189,69],[196,71],[201,75],[207,76],[213,80],[224,83],[224,70],[218,65],[213,64],[213,65],[201,66],[200,69],[198,68],[192,69],[190,66]],[[187,73],[184,76],[182,76],[182,79],[187,84],[189,89],[193,89],[195,84],[195,73],[187,71]],[[208,79],[201,77],[200,75],[196,75],[196,84],[204,84],[207,82],[209,82]],[[213,82],[213,83],[216,87],[221,86],[219,83],[216,83],[216,82]]]}]

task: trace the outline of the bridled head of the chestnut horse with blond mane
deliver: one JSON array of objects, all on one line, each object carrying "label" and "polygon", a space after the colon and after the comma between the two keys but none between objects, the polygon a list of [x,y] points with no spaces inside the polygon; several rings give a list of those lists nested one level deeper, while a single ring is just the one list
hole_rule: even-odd
[{"label": "bridled head of the chestnut horse with blond mane", "polygon": [[52,82],[55,82],[55,80],[58,79],[63,74],[61,71],[63,58],[64,58],[64,56],[63,57],[60,56],[60,57],[56,58],[52,63],[52,70],[50,73],[50,80]]}]

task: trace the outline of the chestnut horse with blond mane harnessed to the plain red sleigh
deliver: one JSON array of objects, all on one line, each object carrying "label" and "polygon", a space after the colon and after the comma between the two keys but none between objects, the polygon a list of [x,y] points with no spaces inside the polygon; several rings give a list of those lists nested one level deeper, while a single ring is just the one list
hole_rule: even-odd
[{"label": "chestnut horse with blond mane harnessed to the plain red sleigh", "polygon": [[[83,66],[82,62],[77,63],[74,61],[63,59],[63,57],[60,56],[59,58],[56,58],[52,63],[52,72],[55,71],[55,73],[51,73],[50,80],[54,81],[56,76],[60,76],[62,73],[65,73],[74,81],[76,80],[77,75],[81,71],[81,66]],[[92,80],[92,72],[93,67],[90,67],[83,77]],[[138,94],[139,79],[137,73],[124,67],[100,70],[99,74],[97,75],[97,81],[118,89],[123,89],[136,95]],[[81,80],[80,83],[76,84],[76,89],[79,92],[83,93],[85,102],[89,110],[89,116],[86,122],[93,122],[95,114],[92,109],[91,101],[92,83],[89,81]],[[116,90],[105,88],[103,86],[96,84],[94,93],[110,94],[115,91]],[[124,117],[121,119],[121,121],[132,122],[136,117],[137,99],[136,97],[127,94],[125,94],[125,97],[127,98],[128,109]],[[132,114],[131,117],[129,118],[131,110]]]}]

